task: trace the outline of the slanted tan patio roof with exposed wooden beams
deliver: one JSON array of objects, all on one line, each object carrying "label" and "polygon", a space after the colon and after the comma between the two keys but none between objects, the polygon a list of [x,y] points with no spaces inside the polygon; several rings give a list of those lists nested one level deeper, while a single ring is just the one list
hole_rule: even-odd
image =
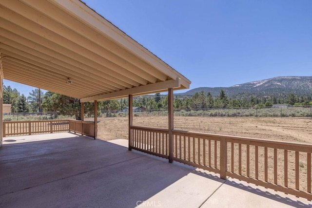
[{"label": "slanted tan patio roof with exposed wooden beams", "polygon": [[80,0],[1,0],[0,69],[81,102],[191,84]]}]

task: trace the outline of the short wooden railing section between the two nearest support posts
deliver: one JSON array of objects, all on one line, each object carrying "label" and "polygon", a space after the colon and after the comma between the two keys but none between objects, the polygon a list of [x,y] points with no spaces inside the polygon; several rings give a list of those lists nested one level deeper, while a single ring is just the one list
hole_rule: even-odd
[{"label": "short wooden railing section between the two nearest support posts", "polygon": [[168,158],[168,130],[132,126],[132,149]]}]

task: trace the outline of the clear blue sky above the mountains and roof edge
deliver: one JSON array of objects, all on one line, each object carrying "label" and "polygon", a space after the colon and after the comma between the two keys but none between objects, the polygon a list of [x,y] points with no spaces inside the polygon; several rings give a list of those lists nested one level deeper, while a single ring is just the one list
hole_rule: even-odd
[{"label": "clear blue sky above the mountains and roof edge", "polygon": [[312,0],[84,2],[189,78],[191,89],[312,76]]}]

